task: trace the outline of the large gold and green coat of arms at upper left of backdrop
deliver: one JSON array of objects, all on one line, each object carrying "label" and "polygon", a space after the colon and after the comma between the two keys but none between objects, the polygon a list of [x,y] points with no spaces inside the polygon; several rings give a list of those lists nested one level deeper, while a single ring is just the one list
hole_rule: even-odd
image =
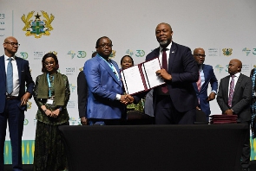
[{"label": "large gold and green coat of arms at upper left of backdrop", "polygon": [[36,39],[41,38],[42,35],[50,35],[50,31],[53,30],[52,26],[50,25],[51,22],[54,20],[55,16],[50,14],[50,16],[47,14],[47,12],[41,10],[42,15],[44,17],[43,20],[40,19],[40,15],[37,12],[37,15],[35,16],[35,20],[30,20],[32,16],[34,15],[35,11],[29,12],[29,14],[26,16],[23,14],[22,21],[25,23],[25,26],[23,27],[23,31],[26,32],[26,36],[34,35]]}]

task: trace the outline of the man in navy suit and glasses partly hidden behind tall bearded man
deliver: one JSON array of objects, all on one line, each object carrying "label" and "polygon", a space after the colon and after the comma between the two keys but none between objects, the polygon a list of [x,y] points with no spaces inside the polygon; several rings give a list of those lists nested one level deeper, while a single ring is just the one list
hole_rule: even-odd
[{"label": "man in navy suit and glasses partly hidden behind tall bearded man", "polygon": [[[218,80],[213,73],[213,66],[204,64],[206,57],[205,50],[203,48],[195,48],[193,55],[200,73],[200,79],[193,83],[194,91],[199,101],[197,109],[206,114],[208,121],[209,115],[211,114],[209,102],[212,101],[217,94]],[[207,96],[209,84],[211,84],[212,92]]]}]

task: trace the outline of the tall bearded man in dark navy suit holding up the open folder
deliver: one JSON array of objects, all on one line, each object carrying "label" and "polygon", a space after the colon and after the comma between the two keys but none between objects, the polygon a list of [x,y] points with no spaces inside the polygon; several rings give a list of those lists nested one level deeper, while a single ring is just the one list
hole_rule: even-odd
[{"label": "tall bearded man in dark navy suit holding up the open folder", "polygon": [[[156,124],[193,124],[197,99],[192,83],[199,78],[190,48],[172,41],[173,30],[167,23],[155,28],[155,36],[160,44],[146,57],[159,57],[162,69],[156,74],[164,79],[165,86],[154,88],[154,117]],[[135,102],[137,102],[137,97]]]}]

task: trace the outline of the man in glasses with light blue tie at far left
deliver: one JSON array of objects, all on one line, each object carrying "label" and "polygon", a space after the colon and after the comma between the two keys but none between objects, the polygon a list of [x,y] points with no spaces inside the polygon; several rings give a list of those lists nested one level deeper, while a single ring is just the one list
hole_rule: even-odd
[{"label": "man in glasses with light blue tie at far left", "polygon": [[35,83],[30,75],[29,61],[15,56],[18,47],[15,37],[7,37],[3,42],[4,55],[0,57],[0,170],[3,170],[3,146],[7,121],[12,167],[13,170],[23,170],[24,111],[27,110],[27,102],[31,98]]}]

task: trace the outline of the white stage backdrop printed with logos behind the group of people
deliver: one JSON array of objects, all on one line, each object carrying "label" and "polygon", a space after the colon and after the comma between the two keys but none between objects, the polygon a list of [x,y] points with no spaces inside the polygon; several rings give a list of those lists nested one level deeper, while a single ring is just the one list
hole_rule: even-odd
[{"label": "white stage backdrop printed with logos behind the group of people", "polygon": [[[17,38],[21,46],[16,55],[30,61],[34,80],[41,74],[43,54],[57,52],[60,72],[69,77],[70,124],[76,125],[76,78],[99,37],[113,41],[116,62],[130,54],[138,64],[158,47],[156,25],[167,22],[175,42],[206,50],[205,63],[213,66],[219,80],[233,58],[243,62],[242,73],[249,75],[256,65],[255,9],[255,0],[1,0],[0,42],[10,35]],[[216,100],[210,104],[212,114],[220,114]],[[31,98],[23,140],[35,138],[36,110]]]}]

